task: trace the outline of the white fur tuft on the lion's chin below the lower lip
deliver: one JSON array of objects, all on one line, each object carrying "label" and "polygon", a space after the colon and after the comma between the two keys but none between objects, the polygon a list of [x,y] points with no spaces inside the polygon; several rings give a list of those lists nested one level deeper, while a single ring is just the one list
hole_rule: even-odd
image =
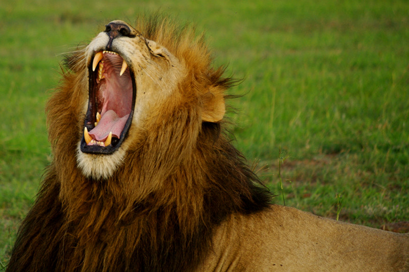
[{"label": "white fur tuft on the lion's chin below the lower lip", "polygon": [[77,164],[87,178],[108,179],[124,161],[125,150],[120,148],[110,155],[87,154],[77,147]]}]

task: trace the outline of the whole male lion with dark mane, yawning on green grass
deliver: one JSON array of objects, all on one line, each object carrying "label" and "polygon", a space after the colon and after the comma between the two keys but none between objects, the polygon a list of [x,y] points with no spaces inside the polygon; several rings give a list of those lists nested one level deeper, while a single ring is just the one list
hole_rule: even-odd
[{"label": "whole male lion with dark mane, yawning on green grass", "polygon": [[408,271],[409,237],[271,197],[222,133],[202,39],[112,21],[47,105],[53,162],[8,271]]}]

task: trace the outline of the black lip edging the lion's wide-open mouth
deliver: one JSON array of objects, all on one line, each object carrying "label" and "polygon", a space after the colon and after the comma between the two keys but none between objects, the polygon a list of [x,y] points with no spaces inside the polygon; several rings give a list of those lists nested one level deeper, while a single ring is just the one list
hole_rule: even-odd
[{"label": "black lip edging the lion's wide-open mouth", "polygon": [[[92,58],[94,59],[94,58]],[[115,152],[122,144],[122,142],[128,136],[128,130],[132,123],[133,112],[135,108],[135,100],[137,96],[137,84],[135,82],[135,77],[133,72],[129,67],[129,73],[132,81],[132,108],[131,112],[129,113],[128,120],[126,120],[125,127],[121,132],[120,138],[115,140],[116,138],[112,138],[112,143],[108,146],[99,146],[99,145],[87,145],[85,142],[84,134],[82,134],[82,139],[80,143],[80,148],[83,153],[90,153],[90,154],[112,154]],[[95,94],[96,94],[96,76],[97,73],[92,70],[92,64],[88,66],[88,109],[86,111],[84,127],[87,128],[88,131],[94,128],[95,115],[97,114],[97,103],[95,101]],[[83,131],[83,128],[82,128]]]}]

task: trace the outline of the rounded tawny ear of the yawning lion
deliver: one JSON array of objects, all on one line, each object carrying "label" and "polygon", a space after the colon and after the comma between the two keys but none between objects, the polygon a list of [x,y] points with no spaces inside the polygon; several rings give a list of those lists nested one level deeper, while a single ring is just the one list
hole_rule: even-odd
[{"label": "rounded tawny ear of the yawning lion", "polygon": [[203,111],[201,119],[205,122],[220,121],[226,108],[224,105],[224,95],[217,87],[211,87],[210,90],[202,95]]}]

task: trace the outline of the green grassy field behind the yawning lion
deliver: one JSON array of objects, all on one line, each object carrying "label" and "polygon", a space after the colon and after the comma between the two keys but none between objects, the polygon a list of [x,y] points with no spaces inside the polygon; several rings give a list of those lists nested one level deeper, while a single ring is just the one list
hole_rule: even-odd
[{"label": "green grassy field behind the yawning lion", "polygon": [[63,53],[158,9],[206,30],[215,65],[244,79],[230,129],[276,203],[372,227],[409,219],[407,1],[6,1],[0,270],[51,161],[44,104]]}]

